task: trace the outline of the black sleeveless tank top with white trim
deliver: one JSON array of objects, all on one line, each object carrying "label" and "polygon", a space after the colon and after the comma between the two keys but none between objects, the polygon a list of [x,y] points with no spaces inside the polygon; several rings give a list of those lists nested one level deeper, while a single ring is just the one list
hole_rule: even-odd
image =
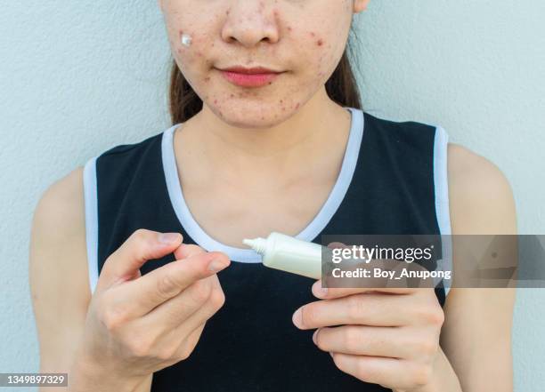
[{"label": "black sleeveless tank top with white trim", "polygon": [[[346,110],[352,126],[338,180],[297,238],[321,244],[321,235],[451,234],[448,134],[443,128]],[[297,308],[317,300],[311,292],[313,279],[266,268],[255,251],[221,244],[199,227],[184,202],[177,174],[173,132],[179,125],[110,148],[85,164],[92,292],[104,261],[137,228],[180,232],[184,243],[225,252],[232,260],[218,273],[224,307],[207,321],[191,356],[153,374],[151,390],[391,390],[340,371],[329,353],[314,345],[314,330],[292,324]],[[148,261],[142,275],[173,260],[170,254]],[[443,282],[435,288],[442,307],[448,289]]]}]

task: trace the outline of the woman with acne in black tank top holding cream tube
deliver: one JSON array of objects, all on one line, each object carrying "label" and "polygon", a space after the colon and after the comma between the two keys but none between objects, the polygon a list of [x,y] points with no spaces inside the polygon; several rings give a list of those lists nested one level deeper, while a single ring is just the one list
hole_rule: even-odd
[{"label": "woman with acne in black tank top holding cream tube", "polygon": [[362,111],[346,42],[368,2],[159,1],[173,126],[37,205],[42,372],[72,391],[512,390],[512,291],[323,292],[242,244],[516,233],[494,164]]}]

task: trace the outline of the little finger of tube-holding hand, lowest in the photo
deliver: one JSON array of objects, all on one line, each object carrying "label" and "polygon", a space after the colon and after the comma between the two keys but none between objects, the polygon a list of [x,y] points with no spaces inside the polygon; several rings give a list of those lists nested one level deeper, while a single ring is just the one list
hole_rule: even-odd
[{"label": "little finger of tube-holding hand, lowest in the photo", "polygon": [[427,379],[427,372],[423,367],[417,367],[404,359],[352,356],[335,352],[331,356],[339,370],[359,380],[387,388],[414,388],[415,381]]}]

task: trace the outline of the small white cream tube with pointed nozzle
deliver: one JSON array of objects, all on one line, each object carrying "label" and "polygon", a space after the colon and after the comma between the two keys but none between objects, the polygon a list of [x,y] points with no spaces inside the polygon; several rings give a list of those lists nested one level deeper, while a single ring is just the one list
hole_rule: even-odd
[{"label": "small white cream tube with pointed nozzle", "polygon": [[[266,239],[242,240],[263,256],[263,264],[292,274],[321,278],[321,244],[314,244],[273,231]],[[328,249],[328,248],[326,248]]]}]

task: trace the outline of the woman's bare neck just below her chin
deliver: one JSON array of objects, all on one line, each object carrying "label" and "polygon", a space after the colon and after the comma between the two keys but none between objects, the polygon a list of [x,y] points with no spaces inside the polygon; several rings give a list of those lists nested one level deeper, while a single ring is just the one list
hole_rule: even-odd
[{"label": "woman's bare neck just below her chin", "polygon": [[[206,105],[183,125],[184,138],[198,150],[215,172],[297,175],[328,156],[332,140],[344,148],[350,128],[350,113],[316,94],[297,113],[271,127],[237,127],[226,124]],[[189,130],[189,132],[188,132]]]}]

